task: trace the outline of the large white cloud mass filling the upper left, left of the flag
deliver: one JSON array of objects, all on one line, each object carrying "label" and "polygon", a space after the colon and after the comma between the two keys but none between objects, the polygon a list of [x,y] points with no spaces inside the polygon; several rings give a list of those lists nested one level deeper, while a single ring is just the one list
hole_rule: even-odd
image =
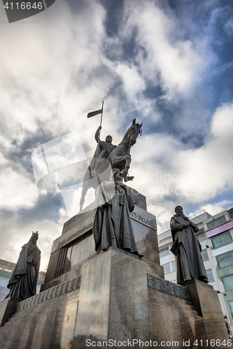
[{"label": "large white cloud mass filling the upper left, left of the flag", "polygon": [[92,1],[86,6],[73,15],[66,3],[56,1],[52,11],[37,17],[41,22],[3,26],[0,111],[12,138],[35,132],[37,121],[54,135],[82,127],[83,111],[101,101],[103,82],[90,83],[90,78],[101,66],[104,9]]}]

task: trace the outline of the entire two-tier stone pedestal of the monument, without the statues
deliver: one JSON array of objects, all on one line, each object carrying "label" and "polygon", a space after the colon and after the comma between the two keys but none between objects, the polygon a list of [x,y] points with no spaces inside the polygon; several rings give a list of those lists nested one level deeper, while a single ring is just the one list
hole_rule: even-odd
[{"label": "entire two-tier stone pedestal of the monument, without the statues", "polygon": [[155,216],[142,195],[138,203],[131,218],[144,257],[113,247],[96,254],[87,207],[53,243],[41,293],[1,302],[2,348],[230,347],[217,292],[164,280]]}]

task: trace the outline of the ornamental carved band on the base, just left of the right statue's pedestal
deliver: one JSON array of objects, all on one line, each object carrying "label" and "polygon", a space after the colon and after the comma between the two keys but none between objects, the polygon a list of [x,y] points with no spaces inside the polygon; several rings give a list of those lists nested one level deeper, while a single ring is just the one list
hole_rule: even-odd
[{"label": "ornamental carved band on the base, just left of the right statue's pedestal", "polygon": [[167,293],[167,295],[185,299],[185,301],[190,300],[190,294],[188,292],[188,289],[181,285],[176,285],[171,281],[160,279],[156,276],[148,275],[147,283],[148,288],[152,288],[155,291]]}]

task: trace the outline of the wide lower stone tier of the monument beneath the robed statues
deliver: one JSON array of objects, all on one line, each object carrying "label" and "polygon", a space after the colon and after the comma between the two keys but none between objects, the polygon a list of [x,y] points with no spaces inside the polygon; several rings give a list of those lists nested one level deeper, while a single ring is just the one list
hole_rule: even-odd
[{"label": "wide lower stone tier of the monument beneath the robed statues", "polygon": [[20,302],[0,338],[4,349],[183,349],[227,348],[228,336],[211,286],[169,283],[136,255],[109,248],[78,278]]}]

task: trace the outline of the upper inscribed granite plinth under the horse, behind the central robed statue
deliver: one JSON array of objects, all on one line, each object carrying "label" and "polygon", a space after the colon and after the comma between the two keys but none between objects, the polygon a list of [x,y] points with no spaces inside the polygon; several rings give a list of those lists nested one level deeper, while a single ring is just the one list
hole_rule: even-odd
[{"label": "upper inscribed granite plinth under the horse, behind the central robed statue", "polygon": [[[148,273],[164,277],[157,244],[156,218],[146,211],[146,198],[139,193],[136,198],[139,202],[130,213],[130,218],[137,248],[144,255],[143,260],[148,265]],[[46,290],[51,287],[50,285],[54,285],[54,282],[59,282],[59,276],[80,268],[88,258],[95,255],[92,235],[94,214],[95,209],[92,204],[64,223],[62,235],[52,244],[48,271],[41,290]]]}]

